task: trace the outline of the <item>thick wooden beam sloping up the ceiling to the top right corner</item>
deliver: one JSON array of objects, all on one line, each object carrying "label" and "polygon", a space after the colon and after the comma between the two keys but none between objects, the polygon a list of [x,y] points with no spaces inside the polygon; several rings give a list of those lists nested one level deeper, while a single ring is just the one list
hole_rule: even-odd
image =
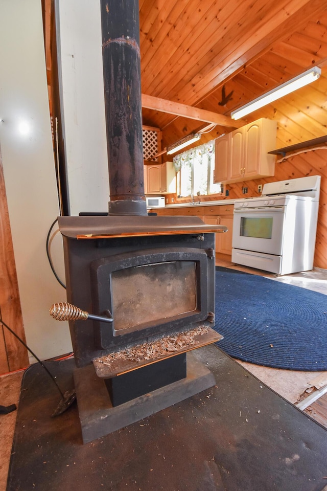
[{"label": "thick wooden beam sloping up the ceiling to the top right corner", "polygon": [[243,46],[232,52],[224,63],[220,64],[218,73],[216,68],[211,74],[207,74],[206,77],[201,79],[201,84],[196,84],[192,81],[191,89],[189,88],[187,92],[185,90],[181,99],[186,99],[190,104],[196,105],[197,102],[207,97],[217,85],[242,70],[245,64],[251,63],[254,59],[271,49],[276,41],[286,38],[290,35],[290,32],[294,32],[299,26],[304,25],[310,18],[316,17],[319,15],[319,12],[326,8],[325,0],[301,2],[301,8],[297,9],[296,5],[297,2],[295,2],[295,6],[294,2],[289,3],[289,6],[292,6],[293,10],[288,10],[289,15],[286,19],[282,20],[280,18],[281,15],[279,15],[276,19],[273,19],[274,21],[270,20],[266,26],[263,26],[265,28],[258,28],[255,36],[245,39]]}]

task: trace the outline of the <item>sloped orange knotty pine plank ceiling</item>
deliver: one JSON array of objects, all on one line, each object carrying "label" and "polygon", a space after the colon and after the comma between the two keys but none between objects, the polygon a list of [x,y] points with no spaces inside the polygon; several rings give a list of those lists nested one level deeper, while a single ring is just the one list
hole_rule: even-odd
[{"label": "sloped orange knotty pine plank ceiling", "polygon": [[[139,7],[143,94],[229,116],[311,66],[326,73],[325,1],[140,0]],[[201,124],[147,108],[143,121],[164,130],[167,144]]]}]

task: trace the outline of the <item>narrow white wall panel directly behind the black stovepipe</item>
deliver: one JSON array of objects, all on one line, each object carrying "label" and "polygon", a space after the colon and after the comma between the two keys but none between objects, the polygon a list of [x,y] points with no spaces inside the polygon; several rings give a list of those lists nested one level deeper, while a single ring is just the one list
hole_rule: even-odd
[{"label": "narrow white wall panel directly behind the black stovepipe", "polygon": [[69,214],[108,211],[100,2],[55,0]]}]

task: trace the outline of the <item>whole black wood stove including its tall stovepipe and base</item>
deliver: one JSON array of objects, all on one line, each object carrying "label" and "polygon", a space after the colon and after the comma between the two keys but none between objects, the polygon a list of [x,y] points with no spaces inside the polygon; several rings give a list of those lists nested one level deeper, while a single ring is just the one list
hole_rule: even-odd
[{"label": "whole black wood stove including its tall stovepipe and base", "polygon": [[108,215],[58,218],[67,301],[96,316],[69,321],[84,442],[215,384],[188,352],[221,339],[215,233],[227,230],[147,214],[138,2],[101,0],[101,17]]}]

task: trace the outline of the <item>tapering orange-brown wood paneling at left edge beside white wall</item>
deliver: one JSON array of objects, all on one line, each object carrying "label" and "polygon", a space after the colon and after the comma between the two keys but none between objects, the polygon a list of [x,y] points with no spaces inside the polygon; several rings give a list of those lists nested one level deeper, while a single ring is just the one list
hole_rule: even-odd
[{"label": "tapering orange-brown wood paneling at left edge beside white wall", "polygon": [[[4,172],[0,154],[0,310],[2,320],[25,341],[18,282],[11,238]],[[0,369],[18,370],[29,365],[26,348],[0,324]]]}]

